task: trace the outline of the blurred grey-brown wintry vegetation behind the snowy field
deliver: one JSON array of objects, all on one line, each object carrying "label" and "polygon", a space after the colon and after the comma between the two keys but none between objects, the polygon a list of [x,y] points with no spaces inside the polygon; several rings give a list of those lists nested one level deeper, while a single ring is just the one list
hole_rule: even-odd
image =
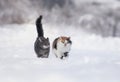
[{"label": "blurred grey-brown wintry vegetation behind the snowy field", "polygon": [[120,36],[120,0],[0,0],[0,25],[34,23],[41,14],[46,23]]}]

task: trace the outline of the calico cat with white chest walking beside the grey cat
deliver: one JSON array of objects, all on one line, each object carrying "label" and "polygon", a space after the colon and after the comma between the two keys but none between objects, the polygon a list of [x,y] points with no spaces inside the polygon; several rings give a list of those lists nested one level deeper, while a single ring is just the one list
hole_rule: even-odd
[{"label": "calico cat with white chest walking beside the grey cat", "polygon": [[71,45],[72,41],[70,37],[61,36],[53,41],[52,50],[56,57],[63,59],[64,57],[68,57]]}]

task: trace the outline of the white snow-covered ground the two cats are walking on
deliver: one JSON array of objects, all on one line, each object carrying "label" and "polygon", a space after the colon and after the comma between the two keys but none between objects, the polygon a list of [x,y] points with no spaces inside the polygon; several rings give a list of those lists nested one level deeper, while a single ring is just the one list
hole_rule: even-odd
[{"label": "white snow-covered ground the two cats are walking on", "polygon": [[[103,38],[66,25],[44,24],[50,42],[70,36],[69,58],[47,59],[34,53],[36,27],[0,26],[0,82],[120,82],[120,38]],[[60,28],[56,28],[60,27]]]}]

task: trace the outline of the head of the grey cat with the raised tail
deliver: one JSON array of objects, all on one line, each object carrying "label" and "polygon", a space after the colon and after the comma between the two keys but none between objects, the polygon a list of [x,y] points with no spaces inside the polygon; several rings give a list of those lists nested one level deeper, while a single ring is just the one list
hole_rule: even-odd
[{"label": "head of the grey cat with the raised tail", "polygon": [[47,49],[47,48],[50,47],[49,38],[39,37],[38,40],[39,40],[39,42],[40,42],[41,48]]}]

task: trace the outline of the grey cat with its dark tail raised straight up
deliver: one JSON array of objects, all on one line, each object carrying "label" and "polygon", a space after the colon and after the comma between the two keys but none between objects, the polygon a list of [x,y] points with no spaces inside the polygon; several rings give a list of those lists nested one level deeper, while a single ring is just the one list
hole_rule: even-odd
[{"label": "grey cat with its dark tail raised straight up", "polygon": [[44,37],[41,21],[42,21],[42,15],[40,15],[36,20],[36,29],[38,36],[34,43],[34,50],[38,58],[48,58],[50,52],[50,41],[49,38]]}]

